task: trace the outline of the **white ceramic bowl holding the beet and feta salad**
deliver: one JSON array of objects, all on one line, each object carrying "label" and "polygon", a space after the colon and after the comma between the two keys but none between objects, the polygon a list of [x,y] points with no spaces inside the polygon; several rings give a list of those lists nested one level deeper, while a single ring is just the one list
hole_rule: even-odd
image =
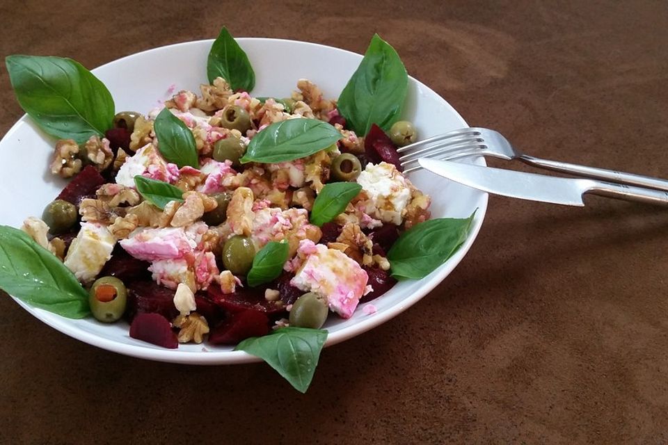
[{"label": "white ceramic bowl holding the beet and feta salad", "polygon": [[[289,97],[298,79],[310,79],[323,90],[325,97],[338,97],[362,56],[320,44],[264,38],[241,38],[256,75],[253,96]],[[199,91],[207,80],[207,54],[212,40],[173,44],[121,58],[93,70],[111,91],[116,110],[141,113],[170,97],[168,90]],[[408,83],[405,119],[415,123],[420,138],[435,136],[452,129],[467,127],[466,122],[442,97],[413,78]],[[58,195],[65,181],[48,170],[55,140],[42,133],[24,115],[0,141],[3,162],[0,163],[0,223],[19,227],[27,216],[40,216],[48,202]],[[484,159],[469,160],[484,165]],[[436,287],[459,264],[468,252],[487,208],[487,195],[459,186],[429,172],[411,173],[416,186],[433,199],[434,218],[466,218],[477,209],[468,239],[443,266],[422,280],[400,282],[385,295],[373,301],[376,314],[365,315],[362,306],[348,320],[331,316],[325,328],[326,345],[355,337],[380,325],[415,304]],[[47,325],[75,339],[116,353],[189,364],[232,364],[259,361],[256,357],[231,347],[206,344],[180,345],[176,350],[153,346],[128,334],[126,323],[104,325],[95,319],[71,320],[35,309],[17,300],[19,305]]]}]

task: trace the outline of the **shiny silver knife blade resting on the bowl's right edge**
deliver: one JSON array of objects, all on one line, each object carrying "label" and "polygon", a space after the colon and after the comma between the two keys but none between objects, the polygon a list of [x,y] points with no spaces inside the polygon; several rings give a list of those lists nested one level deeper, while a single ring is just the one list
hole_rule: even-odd
[{"label": "shiny silver knife blade resting on the bowl's right edge", "polygon": [[417,162],[436,175],[487,193],[568,206],[584,206],[582,194],[595,184],[591,179],[536,175],[436,159],[420,158]]}]

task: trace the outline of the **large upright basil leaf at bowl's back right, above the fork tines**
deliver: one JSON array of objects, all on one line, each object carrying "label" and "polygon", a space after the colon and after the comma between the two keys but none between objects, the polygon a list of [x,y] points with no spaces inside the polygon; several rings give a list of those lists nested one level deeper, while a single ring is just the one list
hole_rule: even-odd
[{"label": "large upright basil leaf at bowl's back right, above the fork tines", "polygon": [[341,92],[339,113],[360,136],[372,124],[388,131],[401,115],[407,91],[408,74],[397,51],[376,34]]}]

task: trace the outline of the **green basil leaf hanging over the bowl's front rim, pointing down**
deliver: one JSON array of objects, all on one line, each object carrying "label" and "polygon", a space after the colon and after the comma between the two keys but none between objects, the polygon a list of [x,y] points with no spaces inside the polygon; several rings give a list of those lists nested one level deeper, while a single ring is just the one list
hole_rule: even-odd
[{"label": "green basil leaf hanging over the bowl's front rim, pointing down", "polygon": [[326,330],[281,327],[264,337],[241,341],[234,350],[244,350],[260,357],[283,375],[294,389],[305,393],[326,339]]}]

